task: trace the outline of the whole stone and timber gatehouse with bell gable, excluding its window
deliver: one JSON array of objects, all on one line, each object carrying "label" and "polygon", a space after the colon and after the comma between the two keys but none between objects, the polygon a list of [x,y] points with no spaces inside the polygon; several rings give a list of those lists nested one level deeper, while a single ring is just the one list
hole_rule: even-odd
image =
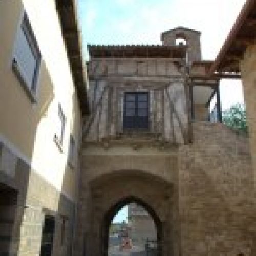
[{"label": "whole stone and timber gatehouse with bell gable, excluding its window", "polygon": [[[187,45],[174,46],[178,38]],[[162,40],[89,47],[74,255],[107,255],[114,215],[135,202],[153,217],[158,256],[254,256],[248,139],[207,122],[218,78],[200,80],[211,64],[201,61],[200,32],[179,27]],[[146,131],[123,125],[127,92],[150,95]]]}]

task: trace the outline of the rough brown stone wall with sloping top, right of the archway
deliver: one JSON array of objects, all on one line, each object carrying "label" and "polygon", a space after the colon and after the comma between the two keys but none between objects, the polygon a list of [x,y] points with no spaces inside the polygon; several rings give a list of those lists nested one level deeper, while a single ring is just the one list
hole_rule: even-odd
[{"label": "rough brown stone wall with sloping top, right of the archway", "polygon": [[220,123],[195,123],[194,143],[178,159],[182,255],[254,255],[247,139]]}]

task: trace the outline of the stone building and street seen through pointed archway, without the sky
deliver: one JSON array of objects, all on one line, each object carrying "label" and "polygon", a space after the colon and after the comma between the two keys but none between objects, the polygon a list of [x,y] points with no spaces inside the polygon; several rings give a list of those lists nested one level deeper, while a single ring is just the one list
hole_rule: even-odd
[{"label": "stone building and street seen through pointed archway, without the sky", "polygon": [[[157,223],[151,214],[140,204],[132,202],[127,208],[127,219],[113,223],[109,228],[108,255],[122,253],[133,255],[157,255]],[[122,210],[122,209],[121,209]],[[117,213],[118,214],[118,213]]]}]

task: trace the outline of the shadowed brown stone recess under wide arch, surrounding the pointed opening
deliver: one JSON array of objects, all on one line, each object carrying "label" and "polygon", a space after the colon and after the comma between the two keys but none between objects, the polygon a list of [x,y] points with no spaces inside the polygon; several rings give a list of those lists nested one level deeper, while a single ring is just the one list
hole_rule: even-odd
[{"label": "shadowed brown stone recess under wide arch, surrounding the pointed opening", "polygon": [[88,184],[86,191],[87,195],[81,195],[86,200],[79,202],[79,233],[83,233],[81,243],[86,244],[83,255],[106,255],[108,225],[115,211],[131,201],[137,201],[152,215],[162,245],[159,255],[179,255],[178,194],[174,184],[130,169],[101,175]]}]

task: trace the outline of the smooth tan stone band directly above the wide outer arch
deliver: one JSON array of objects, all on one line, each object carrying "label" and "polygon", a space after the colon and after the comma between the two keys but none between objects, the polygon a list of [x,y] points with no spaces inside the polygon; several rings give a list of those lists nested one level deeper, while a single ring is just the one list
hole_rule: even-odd
[{"label": "smooth tan stone band directly above the wide outer arch", "polygon": [[[138,175],[173,183],[177,177],[177,155],[84,156],[81,179],[84,185],[111,175]],[[83,171],[84,170],[84,171]],[[151,178],[150,178],[151,177]]]}]

